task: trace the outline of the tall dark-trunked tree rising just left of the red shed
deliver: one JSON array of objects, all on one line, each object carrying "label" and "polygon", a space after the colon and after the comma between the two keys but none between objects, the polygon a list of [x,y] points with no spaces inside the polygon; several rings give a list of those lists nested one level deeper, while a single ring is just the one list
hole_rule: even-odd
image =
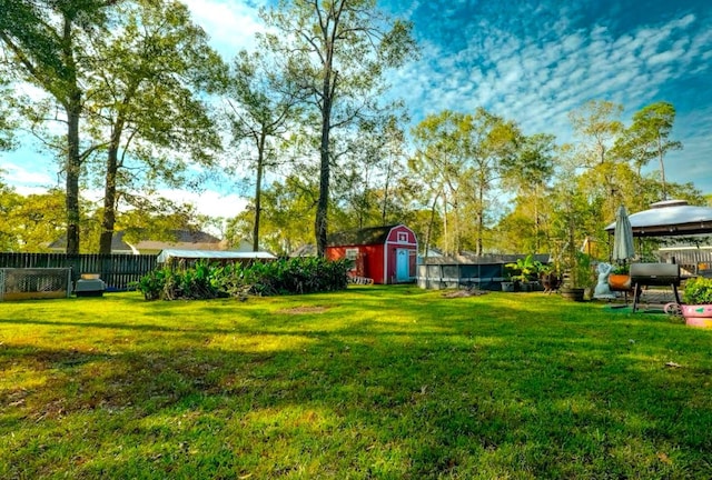
[{"label": "tall dark-trunked tree rising just left of the red shed", "polygon": [[332,132],[383,111],[386,69],[402,66],[415,52],[411,24],[377,10],[375,0],[280,0],[264,18],[276,30],[264,37],[267,47],[294,60],[290,74],[303,82],[320,117],[315,232],[324,256]]}]

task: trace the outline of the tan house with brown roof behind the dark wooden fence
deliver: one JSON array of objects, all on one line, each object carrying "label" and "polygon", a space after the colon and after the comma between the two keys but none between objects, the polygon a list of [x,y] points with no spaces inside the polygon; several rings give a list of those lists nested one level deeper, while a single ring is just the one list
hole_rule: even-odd
[{"label": "tan house with brown roof behind the dark wooden fence", "polygon": [[[172,230],[169,240],[139,240],[135,243],[126,241],[126,232],[118,231],[111,239],[111,253],[158,254],[166,249],[179,250],[225,250],[219,238],[197,230]],[[51,251],[65,252],[67,238],[63,237],[49,244]]]}]

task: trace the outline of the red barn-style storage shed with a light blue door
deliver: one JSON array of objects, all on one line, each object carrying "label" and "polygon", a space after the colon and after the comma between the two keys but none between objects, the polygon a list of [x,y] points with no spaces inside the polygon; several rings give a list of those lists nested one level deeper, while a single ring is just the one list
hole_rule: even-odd
[{"label": "red barn-style storage shed with a light blue door", "polygon": [[372,278],[374,283],[408,283],[415,281],[417,251],[413,230],[395,224],[333,233],[326,257],[354,260],[354,276]]}]

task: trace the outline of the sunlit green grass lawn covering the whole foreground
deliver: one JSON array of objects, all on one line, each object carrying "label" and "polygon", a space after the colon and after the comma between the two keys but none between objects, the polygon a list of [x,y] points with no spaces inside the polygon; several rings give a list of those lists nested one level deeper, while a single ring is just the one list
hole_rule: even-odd
[{"label": "sunlit green grass lawn covering the whole foreground", "polygon": [[712,331],[542,293],[0,303],[0,478],[712,478]]}]

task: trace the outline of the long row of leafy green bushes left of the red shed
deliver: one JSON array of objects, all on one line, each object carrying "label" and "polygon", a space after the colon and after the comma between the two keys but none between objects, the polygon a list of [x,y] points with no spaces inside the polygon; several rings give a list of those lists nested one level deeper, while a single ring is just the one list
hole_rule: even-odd
[{"label": "long row of leafy green bushes left of the red shed", "polygon": [[156,270],[137,282],[147,300],[162,298],[211,299],[218,297],[300,294],[344,290],[348,282],[347,260],[322,258],[279,259],[218,266],[198,261],[185,270]]}]

